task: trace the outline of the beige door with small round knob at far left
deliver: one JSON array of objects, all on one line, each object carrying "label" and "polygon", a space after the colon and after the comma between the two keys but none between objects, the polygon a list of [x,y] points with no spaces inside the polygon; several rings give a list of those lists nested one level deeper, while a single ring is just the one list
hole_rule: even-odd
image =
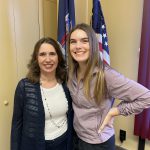
[{"label": "beige door with small round knob at far left", "polygon": [[15,81],[15,60],[10,34],[9,1],[0,1],[0,150],[9,150],[12,97]]}]

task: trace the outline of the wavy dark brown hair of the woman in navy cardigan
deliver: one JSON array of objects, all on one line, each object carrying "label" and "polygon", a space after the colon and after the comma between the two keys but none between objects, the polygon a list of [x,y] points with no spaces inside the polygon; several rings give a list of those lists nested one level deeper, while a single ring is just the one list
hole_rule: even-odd
[{"label": "wavy dark brown hair of the woman in navy cardigan", "polygon": [[33,83],[40,82],[40,67],[38,64],[37,57],[38,57],[39,49],[43,43],[48,43],[55,48],[56,53],[58,55],[58,66],[56,68],[56,78],[59,82],[66,81],[67,67],[66,67],[66,62],[65,62],[63,54],[62,54],[61,47],[57,41],[55,41],[54,39],[52,39],[50,37],[41,38],[35,44],[32,58],[28,64],[29,71],[27,73],[27,78]]}]

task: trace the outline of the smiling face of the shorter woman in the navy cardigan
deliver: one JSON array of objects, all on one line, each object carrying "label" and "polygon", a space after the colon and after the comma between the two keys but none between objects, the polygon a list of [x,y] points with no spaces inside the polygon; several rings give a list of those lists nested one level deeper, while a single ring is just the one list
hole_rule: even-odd
[{"label": "smiling face of the shorter woman in the navy cardigan", "polygon": [[58,55],[55,48],[48,43],[43,43],[38,52],[38,64],[41,74],[55,74],[58,66]]}]

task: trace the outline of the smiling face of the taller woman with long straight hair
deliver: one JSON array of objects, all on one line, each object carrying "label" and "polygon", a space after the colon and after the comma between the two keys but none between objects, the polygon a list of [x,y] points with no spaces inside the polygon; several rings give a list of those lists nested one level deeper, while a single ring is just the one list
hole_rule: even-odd
[{"label": "smiling face of the taller woman with long straight hair", "polygon": [[75,61],[86,63],[89,59],[90,45],[89,39],[83,30],[77,29],[70,36],[70,54]]}]

